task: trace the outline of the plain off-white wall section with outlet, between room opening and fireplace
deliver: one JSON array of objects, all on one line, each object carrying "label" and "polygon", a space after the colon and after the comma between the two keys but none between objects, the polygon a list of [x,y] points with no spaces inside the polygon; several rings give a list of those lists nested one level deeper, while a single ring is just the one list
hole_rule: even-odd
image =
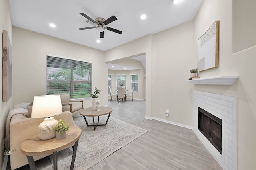
[{"label": "plain off-white wall section with outlet, between room opening and fireplace", "polygon": [[190,70],[197,68],[193,21],[154,34],[152,42],[153,117],[192,127],[192,86],[186,80]]}]

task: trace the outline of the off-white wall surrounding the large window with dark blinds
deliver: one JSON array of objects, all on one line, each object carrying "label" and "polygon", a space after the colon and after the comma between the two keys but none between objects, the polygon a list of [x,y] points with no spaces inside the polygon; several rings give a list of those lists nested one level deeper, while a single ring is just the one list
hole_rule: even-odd
[{"label": "off-white wall surrounding the large window with dark blinds", "polygon": [[[108,105],[108,64],[104,51],[64,41],[26,29],[13,27],[13,102],[28,103],[46,95],[46,54],[92,61],[92,88],[101,90],[101,105]],[[84,100],[84,108],[92,99]]]}]

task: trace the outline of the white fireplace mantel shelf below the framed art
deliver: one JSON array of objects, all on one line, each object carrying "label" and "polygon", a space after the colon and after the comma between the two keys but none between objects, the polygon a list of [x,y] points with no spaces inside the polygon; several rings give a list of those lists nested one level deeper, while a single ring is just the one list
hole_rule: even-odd
[{"label": "white fireplace mantel shelf below the framed art", "polygon": [[219,76],[210,78],[198,78],[187,81],[191,84],[232,85],[236,79],[238,79],[238,76]]}]

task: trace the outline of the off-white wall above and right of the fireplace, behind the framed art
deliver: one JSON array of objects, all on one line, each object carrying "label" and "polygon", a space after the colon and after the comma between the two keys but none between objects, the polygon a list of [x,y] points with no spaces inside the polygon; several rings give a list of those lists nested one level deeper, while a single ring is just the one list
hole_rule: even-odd
[{"label": "off-white wall above and right of the fireplace, behind the framed art", "polygon": [[[242,6],[239,4],[242,3]],[[253,6],[253,7],[252,7]],[[235,8],[233,8],[235,7]],[[246,11],[243,14],[241,11]],[[195,85],[194,90],[234,96],[238,98],[238,169],[256,169],[256,41],[232,37],[240,24],[237,12],[243,18],[241,35],[256,38],[256,1],[250,0],[205,0],[194,18],[194,60],[197,59],[197,40],[216,21],[220,21],[219,67],[200,72],[200,77],[239,76],[232,86]],[[254,14],[246,18],[247,14]],[[253,27],[254,29],[247,29]],[[237,42],[239,41],[239,42]],[[232,53],[232,51],[236,53]]]}]

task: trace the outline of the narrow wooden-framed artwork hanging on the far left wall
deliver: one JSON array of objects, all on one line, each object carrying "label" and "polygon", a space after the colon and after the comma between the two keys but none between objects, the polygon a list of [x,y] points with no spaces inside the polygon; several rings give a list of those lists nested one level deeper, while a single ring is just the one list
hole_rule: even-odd
[{"label": "narrow wooden-framed artwork hanging on the far left wall", "polygon": [[8,101],[12,96],[12,46],[8,32],[2,32],[2,100]]}]

